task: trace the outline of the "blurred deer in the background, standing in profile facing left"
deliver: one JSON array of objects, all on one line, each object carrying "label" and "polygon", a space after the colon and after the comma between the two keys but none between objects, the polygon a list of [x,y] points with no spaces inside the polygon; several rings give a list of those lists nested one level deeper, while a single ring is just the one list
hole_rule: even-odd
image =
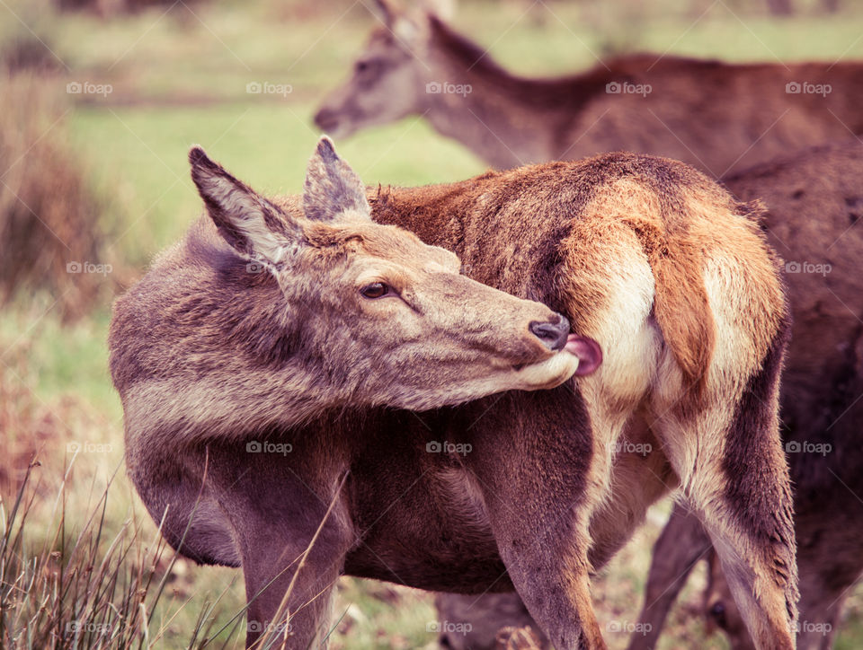
[{"label": "blurred deer in the background, standing in profile facing left", "polygon": [[417,115],[497,169],[619,150],[681,160],[718,179],[863,133],[859,62],[636,54],[526,78],[433,11],[376,4],[381,24],[314,116],[337,138]]}]

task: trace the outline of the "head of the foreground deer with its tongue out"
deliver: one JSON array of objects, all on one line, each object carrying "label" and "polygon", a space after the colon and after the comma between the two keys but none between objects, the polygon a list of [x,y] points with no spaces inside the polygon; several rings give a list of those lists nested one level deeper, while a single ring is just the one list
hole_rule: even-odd
[{"label": "head of the foreground deer with its tongue out", "polygon": [[218,232],[265,276],[252,289],[269,287],[257,336],[290,341],[282,358],[261,354],[270,372],[289,374],[290,390],[303,387],[306,405],[437,408],[554,387],[600,362],[595,342],[570,335],[565,317],[459,275],[456,255],[375,224],[360,177],[327,138],[308,164],[304,216],[200,148],[190,161]]}]

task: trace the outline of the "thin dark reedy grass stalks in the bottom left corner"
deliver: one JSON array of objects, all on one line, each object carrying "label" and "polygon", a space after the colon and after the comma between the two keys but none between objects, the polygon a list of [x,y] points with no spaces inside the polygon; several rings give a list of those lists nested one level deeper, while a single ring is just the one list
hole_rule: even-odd
[{"label": "thin dark reedy grass stalks in the bottom left corner", "polygon": [[[71,463],[76,460],[73,455]],[[40,465],[31,463],[10,509],[0,510],[0,644],[5,647],[113,648],[163,646],[177,637],[175,619],[186,602],[169,586],[178,561],[157,530],[132,512],[111,532],[109,504],[117,489],[108,479],[85,510],[64,480],[50,513],[31,486]],[[71,474],[72,466],[64,476]],[[96,483],[96,481],[93,481]],[[77,487],[80,489],[80,485]],[[128,502],[127,502],[128,503]],[[35,521],[34,521],[35,519]],[[144,539],[147,534],[148,539]],[[179,560],[182,561],[182,560]],[[234,642],[237,625],[218,615],[233,586],[196,602],[186,618],[183,643],[205,647]],[[229,611],[237,611],[236,602]],[[224,628],[224,631],[221,631]]]}]

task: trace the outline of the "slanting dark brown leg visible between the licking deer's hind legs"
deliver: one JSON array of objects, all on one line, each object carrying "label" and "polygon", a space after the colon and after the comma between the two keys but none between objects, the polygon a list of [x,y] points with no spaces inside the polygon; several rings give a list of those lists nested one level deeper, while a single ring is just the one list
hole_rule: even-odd
[{"label": "slanting dark brown leg visible between the licking deer's hind legs", "polygon": [[633,635],[628,650],[648,650],[656,646],[677,594],[709,549],[710,538],[698,517],[685,505],[674,505],[672,516],[654,544],[645,604],[638,617],[639,629],[644,633]]}]

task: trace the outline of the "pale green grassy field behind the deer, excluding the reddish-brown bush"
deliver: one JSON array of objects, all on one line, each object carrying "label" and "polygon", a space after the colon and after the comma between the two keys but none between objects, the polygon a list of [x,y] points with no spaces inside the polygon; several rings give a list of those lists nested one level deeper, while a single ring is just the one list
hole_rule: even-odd
[{"label": "pale green grassy field behind the deer, excluding the reddish-brown bush", "polygon": [[[103,206],[94,227],[105,233],[104,259],[89,261],[114,269],[104,277],[105,298],[83,320],[65,321],[54,308],[57,296],[38,291],[18,294],[0,313],[5,456],[0,467],[13,486],[20,484],[31,452],[39,452],[41,463],[32,468],[25,490],[33,501],[17,552],[19,559],[21,554],[36,558],[42,549],[56,549],[61,522],[68,540],[80,539],[86,517],[99,511],[107,490],[103,530],[88,557],[114,557],[111,540],[127,540],[132,549],[127,559],[136,553],[150,558],[156,552],[156,527],[121,469],[122,413],[107,372],[105,344],[111,295],[138,277],[156,252],[200,214],[186,163],[191,144],[203,145],[256,189],[287,193],[301,188],[319,135],[310,119],[316,102],[347,75],[374,19],[362,2],[346,0],[181,2],[168,11],[155,7],[110,20],[59,14],[44,0],[7,2],[0,2],[2,51],[29,43],[51,69],[40,78],[66,112],[43,137],[64,138],[76,153],[75,164]],[[460,6],[454,22],[490,46],[493,57],[525,74],[571,71],[591,65],[593,53],[623,50],[734,61],[863,58],[863,7],[848,2],[842,13],[826,15],[815,3],[797,4],[801,15],[777,21],[761,11],[760,3],[753,8],[743,0],[662,0],[644,6],[629,0],[477,0]],[[251,82],[289,84],[291,92],[284,97],[249,94],[245,88]],[[110,84],[111,92],[69,94],[67,83]],[[476,157],[417,118],[337,145],[369,184],[458,180],[484,170]],[[26,158],[13,162],[25,163]],[[21,531],[16,528],[20,519],[11,516],[13,495],[11,489],[2,493],[7,540],[15,537],[12,531]],[[58,504],[65,504],[65,515]],[[660,505],[602,572],[594,593],[602,621],[636,620],[649,547],[667,512],[668,505]],[[75,557],[67,549],[56,552],[59,564]],[[141,598],[147,644],[186,647],[200,627],[209,630],[201,634],[216,636],[218,644],[209,646],[241,646],[244,626],[236,614],[245,599],[239,572],[182,560],[168,571],[170,559],[166,552],[141,562],[151,567],[156,583],[165,579],[155,606],[155,588]],[[704,580],[701,567],[673,612],[661,647],[726,646],[720,637],[703,637],[694,615]],[[20,585],[4,591],[7,628],[0,625],[0,646],[8,640],[10,625],[39,627],[38,608],[31,619],[8,614],[7,605],[25,595]],[[426,632],[434,620],[428,594],[345,579],[335,611],[341,617],[332,637],[335,648],[434,646],[435,635]],[[610,646],[626,646],[623,635],[608,637]],[[27,638],[20,637],[22,647]],[[860,646],[863,593],[850,599],[837,643]]]}]

